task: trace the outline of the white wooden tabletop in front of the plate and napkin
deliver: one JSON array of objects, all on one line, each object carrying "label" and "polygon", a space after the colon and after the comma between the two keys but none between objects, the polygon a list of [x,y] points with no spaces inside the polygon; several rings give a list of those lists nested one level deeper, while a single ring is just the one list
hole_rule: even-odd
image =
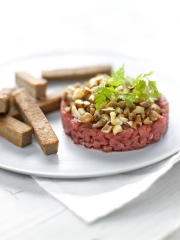
[{"label": "white wooden tabletop in front of the plate and napkin", "polygon": [[[108,217],[88,225],[53,199],[29,176],[0,171],[0,239],[79,239],[116,240],[164,239],[170,233],[179,239],[180,227],[180,164],[158,180],[140,198]],[[154,205],[154,202],[156,205]],[[139,211],[144,212],[138,217]],[[151,225],[146,221],[154,218]],[[129,221],[130,220],[130,221]],[[128,224],[127,224],[128,223]],[[139,225],[141,226],[139,228]],[[138,231],[137,227],[138,226]],[[157,232],[158,229],[161,231]]]}]

